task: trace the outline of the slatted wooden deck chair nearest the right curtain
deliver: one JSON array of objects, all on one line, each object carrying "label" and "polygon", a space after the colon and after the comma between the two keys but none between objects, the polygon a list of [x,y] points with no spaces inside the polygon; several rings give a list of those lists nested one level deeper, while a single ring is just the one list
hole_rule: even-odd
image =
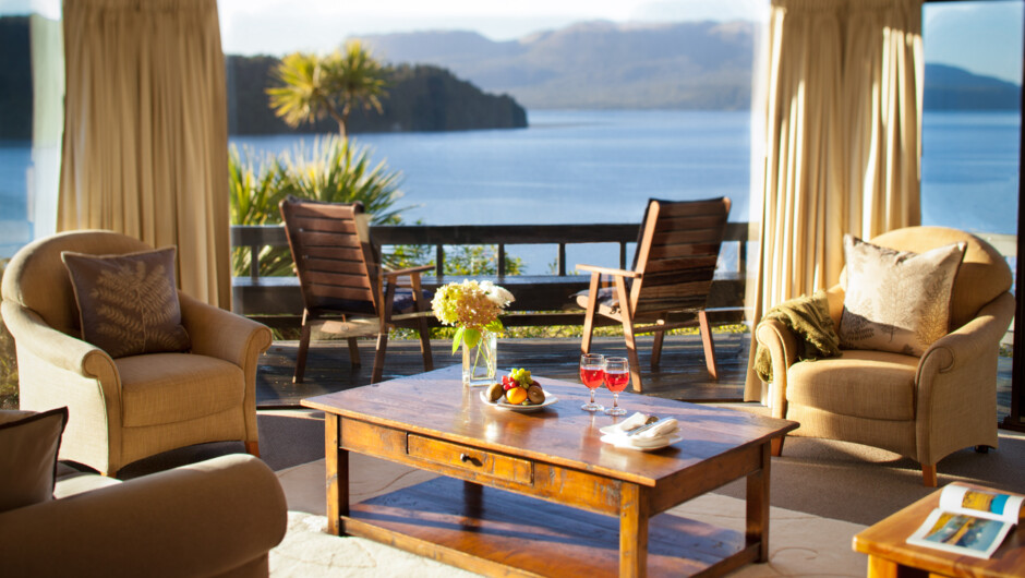
[{"label": "slatted wooden deck chair nearest the right curtain", "polygon": [[[665,332],[697,324],[704,346],[704,363],[713,380],[719,378],[715,348],[704,311],[719,250],[726,230],[729,200],[656,201],[648,203],[637,238],[637,252],[630,270],[577,265],[591,272],[590,288],[578,293],[577,302],[587,310],[580,350],[591,350],[595,315],[623,324],[630,378],[634,389],[642,389],[640,363],[634,336],[654,333],[651,368],[659,366]],[[600,287],[602,275],[612,277],[611,287]]]}]

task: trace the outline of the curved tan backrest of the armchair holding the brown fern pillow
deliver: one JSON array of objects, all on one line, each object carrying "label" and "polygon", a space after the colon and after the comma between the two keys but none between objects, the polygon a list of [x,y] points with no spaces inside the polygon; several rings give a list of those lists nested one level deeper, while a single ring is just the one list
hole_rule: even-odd
[{"label": "curved tan backrest of the armchair holding the brown fern pillow", "polygon": [[35,311],[61,333],[81,337],[79,305],[61,252],[122,255],[152,250],[134,237],[106,230],[68,231],[38,239],[19,250],[4,268],[3,300]]}]

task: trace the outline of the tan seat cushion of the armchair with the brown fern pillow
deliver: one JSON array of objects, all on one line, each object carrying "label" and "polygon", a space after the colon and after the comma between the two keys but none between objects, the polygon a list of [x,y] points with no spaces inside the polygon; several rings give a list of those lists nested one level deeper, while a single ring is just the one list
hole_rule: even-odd
[{"label": "tan seat cushion of the armchair with the brown fern pillow", "polygon": [[116,362],[126,428],[177,423],[239,407],[242,369],[190,353],[155,353]]}]

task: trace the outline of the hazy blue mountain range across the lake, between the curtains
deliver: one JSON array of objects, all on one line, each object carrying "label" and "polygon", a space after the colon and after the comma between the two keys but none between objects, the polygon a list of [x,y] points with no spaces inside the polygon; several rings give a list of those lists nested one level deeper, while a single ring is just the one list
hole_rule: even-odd
[{"label": "hazy blue mountain range across the lake, between the curtains", "polygon": [[749,22],[587,22],[511,41],[468,32],[362,36],[391,62],[444,67],[531,108],[745,109]]}]

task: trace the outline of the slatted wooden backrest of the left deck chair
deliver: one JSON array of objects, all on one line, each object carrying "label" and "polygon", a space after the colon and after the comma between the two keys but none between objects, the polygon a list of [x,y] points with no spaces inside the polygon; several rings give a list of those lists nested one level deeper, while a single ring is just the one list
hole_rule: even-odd
[{"label": "slatted wooden backrest of the left deck chair", "polygon": [[363,205],[289,197],[279,207],[305,308],[376,315],[378,264]]}]

